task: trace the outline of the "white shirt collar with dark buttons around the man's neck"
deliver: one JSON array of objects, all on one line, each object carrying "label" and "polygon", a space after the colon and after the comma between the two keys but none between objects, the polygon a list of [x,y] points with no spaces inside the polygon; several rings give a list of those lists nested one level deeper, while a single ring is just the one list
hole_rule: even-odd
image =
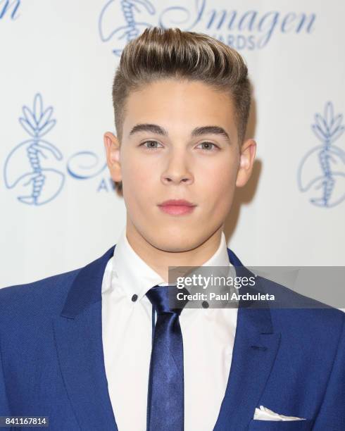
[{"label": "white shirt collar with dark buttons around the man's neck", "polygon": [[[118,282],[124,287],[128,299],[137,294],[138,300],[142,299],[151,287],[156,285],[168,285],[161,275],[156,273],[140,256],[132,249],[126,235],[126,227],[120,234],[111,261],[112,275],[118,277]],[[217,251],[202,266],[232,266],[227,254],[227,243],[224,232],[221,234]]]}]

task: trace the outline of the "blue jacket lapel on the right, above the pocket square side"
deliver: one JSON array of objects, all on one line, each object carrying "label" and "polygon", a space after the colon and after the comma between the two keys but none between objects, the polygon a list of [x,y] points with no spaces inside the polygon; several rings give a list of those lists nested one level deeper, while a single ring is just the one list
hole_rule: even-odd
[{"label": "blue jacket lapel on the right, above the pocket square side", "polygon": [[[253,275],[233,251],[227,252],[237,276]],[[242,286],[239,293],[255,294],[258,287]],[[280,346],[280,332],[273,330],[268,304],[265,308],[251,305],[239,301],[230,375],[214,431],[242,430],[249,425]]]}]

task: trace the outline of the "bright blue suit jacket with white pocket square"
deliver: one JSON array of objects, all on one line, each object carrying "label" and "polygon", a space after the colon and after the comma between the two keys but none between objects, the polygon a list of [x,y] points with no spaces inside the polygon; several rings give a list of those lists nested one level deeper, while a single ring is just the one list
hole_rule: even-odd
[{"label": "bright blue suit jacket with white pocket square", "polygon": [[[0,289],[0,416],[49,416],[51,431],[118,429],[101,335],[101,282],[114,247],[83,268]],[[227,251],[237,274],[246,273]],[[214,430],[344,431],[345,313],[241,304]],[[253,420],[260,405],[306,420]]]}]

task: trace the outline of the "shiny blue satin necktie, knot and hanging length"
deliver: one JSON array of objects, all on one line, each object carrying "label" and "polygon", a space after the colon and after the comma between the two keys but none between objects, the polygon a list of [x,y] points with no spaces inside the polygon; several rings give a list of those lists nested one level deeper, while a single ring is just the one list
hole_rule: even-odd
[{"label": "shiny blue satin necktie, knot and hanging length", "polygon": [[[157,313],[149,373],[147,431],[184,429],[183,343],[179,321],[182,308],[170,308],[169,292],[175,295],[187,290],[155,286],[146,293]],[[180,307],[186,303],[178,301]]]}]

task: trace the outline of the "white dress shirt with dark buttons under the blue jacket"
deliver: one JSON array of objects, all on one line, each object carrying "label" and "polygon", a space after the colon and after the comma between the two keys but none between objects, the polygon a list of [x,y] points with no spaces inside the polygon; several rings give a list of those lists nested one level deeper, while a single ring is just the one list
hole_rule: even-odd
[{"label": "white dress shirt with dark buttons under the blue jacket", "polygon": [[[225,235],[203,266],[232,266]],[[108,392],[119,431],[145,431],[152,347],[146,292],[167,285],[130,246],[124,228],[102,284],[102,340]],[[137,294],[137,300],[132,296]],[[184,308],[184,431],[211,431],[225,395],[237,308]]]}]

